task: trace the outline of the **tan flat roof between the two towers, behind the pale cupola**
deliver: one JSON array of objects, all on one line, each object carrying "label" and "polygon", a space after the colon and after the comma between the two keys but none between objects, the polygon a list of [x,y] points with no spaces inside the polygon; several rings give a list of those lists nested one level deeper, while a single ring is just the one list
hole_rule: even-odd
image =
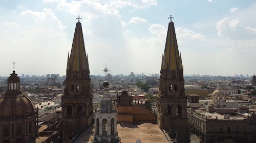
[{"label": "tan flat roof between the two towers, behind the pale cupola", "polygon": [[[167,143],[163,132],[159,129],[157,124],[143,123],[120,123],[117,125],[118,137],[121,142],[134,143],[137,139],[141,139],[143,143]],[[77,143],[89,142],[93,138],[94,129],[84,132],[78,139]]]}]

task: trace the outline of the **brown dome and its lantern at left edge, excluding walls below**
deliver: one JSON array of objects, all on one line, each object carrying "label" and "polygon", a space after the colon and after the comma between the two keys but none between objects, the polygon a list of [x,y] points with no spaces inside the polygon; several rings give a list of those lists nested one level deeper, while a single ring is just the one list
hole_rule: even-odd
[{"label": "brown dome and its lantern at left edge, excluding walls below", "polygon": [[18,119],[36,115],[34,103],[19,91],[20,80],[15,71],[7,81],[7,92],[0,97],[0,119]]}]

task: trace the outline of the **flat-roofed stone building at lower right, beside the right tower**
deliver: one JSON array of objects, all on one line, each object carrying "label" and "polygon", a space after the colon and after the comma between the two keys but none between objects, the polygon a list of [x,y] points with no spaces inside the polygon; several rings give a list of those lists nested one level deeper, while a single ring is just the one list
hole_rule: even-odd
[{"label": "flat-roofed stone building at lower right, beside the right tower", "polygon": [[205,143],[223,142],[231,139],[234,142],[255,142],[256,116],[244,116],[238,112],[206,112],[189,110],[188,122],[194,134]]}]

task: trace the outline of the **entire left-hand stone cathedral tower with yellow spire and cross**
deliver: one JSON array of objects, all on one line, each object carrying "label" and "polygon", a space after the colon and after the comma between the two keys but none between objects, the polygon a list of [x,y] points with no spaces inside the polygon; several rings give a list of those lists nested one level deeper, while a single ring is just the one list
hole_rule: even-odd
[{"label": "entire left-hand stone cathedral tower with yellow spire and cross", "polygon": [[61,98],[63,142],[92,126],[90,82],[88,56],[84,48],[82,25],[78,19],[71,53],[68,54],[66,88]]}]

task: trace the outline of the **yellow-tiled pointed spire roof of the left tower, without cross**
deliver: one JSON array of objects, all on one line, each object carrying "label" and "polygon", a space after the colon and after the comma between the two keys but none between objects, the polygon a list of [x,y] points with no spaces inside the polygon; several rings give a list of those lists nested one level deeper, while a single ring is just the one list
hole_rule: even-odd
[{"label": "yellow-tiled pointed spire roof of the left tower, without cross", "polygon": [[76,23],[72,49],[68,62],[67,70],[70,70],[71,72],[78,72],[78,77],[81,77],[82,70],[89,72],[88,57],[86,55],[86,49],[83,41],[82,25],[79,21]]}]

